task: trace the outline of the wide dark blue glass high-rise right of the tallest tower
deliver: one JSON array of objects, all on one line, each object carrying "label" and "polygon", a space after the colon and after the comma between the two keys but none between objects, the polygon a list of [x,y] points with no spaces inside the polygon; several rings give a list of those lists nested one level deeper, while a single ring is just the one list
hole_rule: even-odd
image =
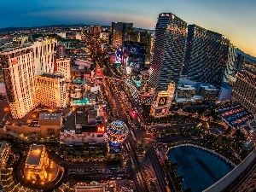
[{"label": "wide dark blue glass high-rise right of the tallest tower", "polygon": [[183,75],[220,86],[234,81],[236,47],[228,38],[201,26],[189,25]]}]

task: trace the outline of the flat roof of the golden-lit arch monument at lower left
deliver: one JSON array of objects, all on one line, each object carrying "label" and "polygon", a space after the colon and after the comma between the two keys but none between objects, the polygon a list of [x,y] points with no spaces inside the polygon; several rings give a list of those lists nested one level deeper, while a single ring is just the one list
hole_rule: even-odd
[{"label": "flat roof of the golden-lit arch monument at lower left", "polygon": [[32,145],[29,149],[26,165],[39,166],[44,145]]}]

